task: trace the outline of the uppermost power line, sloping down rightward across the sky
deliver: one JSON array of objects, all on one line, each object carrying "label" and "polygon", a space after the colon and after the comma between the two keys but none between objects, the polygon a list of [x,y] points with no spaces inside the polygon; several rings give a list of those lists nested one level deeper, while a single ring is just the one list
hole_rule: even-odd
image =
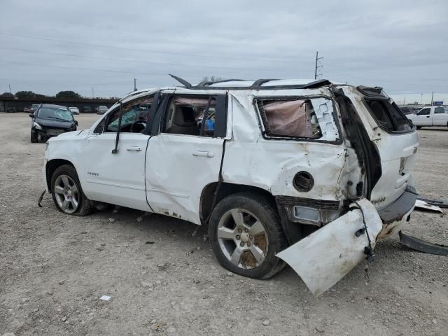
[{"label": "uppermost power line, sloping down rightward across the sky", "polygon": [[18,35],[18,34],[6,34],[6,33],[0,33],[0,35],[3,36],[12,36],[12,37],[21,37],[21,38],[33,38],[36,40],[43,40],[43,41],[53,41],[53,42],[60,42],[60,43],[69,43],[69,44],[78,44],[78,45],[89,45],[92,47],[99,47],[99,48],[113,48],[113,49],[121,49],[121,50],[132,50],[132,51],[142,51],[142,52],[152,52],[155,54],[165,54],[165,55],[180,55],[180,56],[193,56],[193,57],[203,57],[203,58],[216,58],[216,59],[233,59],[233,60],[244,60],[244,61],[260,61],[260,62],[280,62],[280,63],[304,63],[309,64],[309,62],[298,62],[298,61],[292,61],[292,60],[286,60],[286,59],[256,59],[253,57],[226,57],[226,56],[216,56],[216,55],[204,55],[204,54],[193,54],[193,53],[187,53],[187,52],[169,52],[169,51],[159,51],[159,50],[151,50],[151,49],[139,49],[139,48],[127,48],[127,47],[121,47],[117,45],[105,45],[105,44],[95,44],[95,43],[84,43],[84,42],[74,42],[74,41],[65,41],[65,40],[59,40],[57,38],[46,38],[46,37],[38,37],[38,36],[28,36],[28,35]]}]

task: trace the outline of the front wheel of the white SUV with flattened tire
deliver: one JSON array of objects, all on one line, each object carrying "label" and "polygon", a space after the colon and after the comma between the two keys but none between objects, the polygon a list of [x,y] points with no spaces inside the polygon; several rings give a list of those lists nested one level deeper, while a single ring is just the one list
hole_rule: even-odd
[{"label": "front wheel of the white SUV with flattened tire", "polygon": [[64,214],[73,216],[90,214],[92,205],[85,197],[76,169],[72,165],[62,165],[52,174],[51,195],[56,208]]}]

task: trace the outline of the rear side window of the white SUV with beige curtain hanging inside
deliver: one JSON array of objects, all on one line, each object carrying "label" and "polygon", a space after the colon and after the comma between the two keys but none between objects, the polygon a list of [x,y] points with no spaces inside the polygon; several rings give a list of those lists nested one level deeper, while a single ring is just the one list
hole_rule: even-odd
[{"label": "rear side window of the white SUV with beige curtain hanging inside", "polygon": [[310,99],[259,100],[257,105],[267,137],[322,137]]}]

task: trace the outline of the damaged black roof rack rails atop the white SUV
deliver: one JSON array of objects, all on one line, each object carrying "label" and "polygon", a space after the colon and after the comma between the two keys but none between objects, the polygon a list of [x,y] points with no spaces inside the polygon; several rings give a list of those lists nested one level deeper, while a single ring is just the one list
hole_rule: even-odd
[{"label": "damaged black roof rack rails atop the white SUV", "polygon": [[309,83],[304,84],[284,84],[284,85],[265,85],[262,86],[262,84],[265,84],[271,80],[279,80],[279,79],[257,79],[253,82],[252,85],[248,86],[210,86],[218,83],[225,83],[225,82],[238,82],[238,81],[245,81],[246,79],[223,79],[223,80],[213,80],[213,81],[202,81],[197,85],[191,85],[187,80],[180,78],[178,76],[174,76],[171,73],[169,74],[172,78],[177,80],[179,83],[181,83],[184,87],[191,90],[275,90],[275,89],[316,89],[318,87],[322,87],[325,85],[330,85],[331,82],[328,79],[319,79],[314,80]]}]

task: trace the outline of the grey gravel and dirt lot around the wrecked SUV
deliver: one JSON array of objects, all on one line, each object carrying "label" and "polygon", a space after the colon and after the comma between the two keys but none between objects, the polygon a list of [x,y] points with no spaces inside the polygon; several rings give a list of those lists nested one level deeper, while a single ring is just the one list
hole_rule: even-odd
[{"label": "grey gravel and dirt lot around the wrecked SUV", "polygon": [[[315,299],[290,268],[268,281],[229,274],[184,221],[64,216],[48,195],[37,207],[45,145],[30,144],[29,124],[0,113],[0,335],[447,335],[448,258],[398,237],[377,245],[368,284],[359,265]],[[448,130],[419,133],[416,188],[447,197]],[[447,244],[447,222],[416,212],[406,232]]]}]

